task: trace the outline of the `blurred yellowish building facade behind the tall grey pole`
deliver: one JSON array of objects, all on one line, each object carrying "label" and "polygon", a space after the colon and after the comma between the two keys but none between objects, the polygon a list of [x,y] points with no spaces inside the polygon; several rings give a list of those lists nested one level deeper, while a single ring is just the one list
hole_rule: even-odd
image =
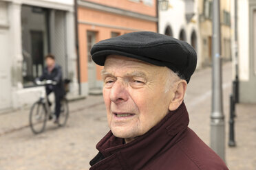
[{"label": "blurred yellowish building facade behind the tall grey pole", "polygon": [[[202,66],[211,65],[212,62],[212,8],[212,0],[198,0]],[[231,60],[231,0],[220,1],[220,25],[222,60]]]}]

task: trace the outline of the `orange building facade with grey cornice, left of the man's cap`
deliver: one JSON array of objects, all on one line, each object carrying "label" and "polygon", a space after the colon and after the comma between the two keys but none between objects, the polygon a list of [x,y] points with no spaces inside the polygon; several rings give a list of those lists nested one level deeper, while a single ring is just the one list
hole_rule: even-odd
[{"label": "orange building facade with grey cornice, left of the man's cap", "polygon": [[78,0],[78,38],[82,95],[101,93],[102,66],[89,51],[94,43],[129,32],[157,32],[156,0]]}]

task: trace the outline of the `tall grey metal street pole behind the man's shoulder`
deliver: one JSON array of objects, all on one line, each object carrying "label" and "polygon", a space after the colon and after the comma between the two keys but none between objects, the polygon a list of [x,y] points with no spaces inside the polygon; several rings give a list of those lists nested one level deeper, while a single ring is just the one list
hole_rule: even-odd
[{"label": "tall grey metal street pole behind the man's shoulder", "polygon": [[211,148],[225,162],[225,121],[222,106],[222,58],[220,56],[220,0],[213,0],[213,94]]}]

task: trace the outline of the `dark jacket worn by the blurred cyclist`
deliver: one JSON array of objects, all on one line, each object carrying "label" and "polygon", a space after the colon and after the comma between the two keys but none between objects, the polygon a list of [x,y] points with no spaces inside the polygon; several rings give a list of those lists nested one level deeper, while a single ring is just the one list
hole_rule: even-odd
[{"label": "dark jacket worn by the blurred cyclist", "polygon": [[39,80],[53,80],[57,82],[55,86],[52,85],[47,85],[46,89],[48,90],[53,90],[58,93],[58,95],[63,96],[65,91],[64,91],[64,84],[62,80],[62,69],[61,66],[58,64],[55,64],[54,69],[52,69],[52,72],[49,73],[47,70],[47,66],[43,69],[43,75],[39,77]]}]

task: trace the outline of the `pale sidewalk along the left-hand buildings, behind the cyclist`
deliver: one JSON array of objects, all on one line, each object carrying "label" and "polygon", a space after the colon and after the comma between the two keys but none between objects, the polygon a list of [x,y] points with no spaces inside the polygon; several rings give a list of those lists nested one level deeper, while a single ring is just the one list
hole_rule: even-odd
[{"label": "pale sidewalk along the left-hand buildings, behind the cyclist", "polygon": [[[70,113],[72,112],[73,114],[99,104],[104,104],[101,97],[89,96],[86,99],[69,101],[69,109]],[[10,112],[2,112],[0,114],[0,136],[29,127],[30,107]]]}]

